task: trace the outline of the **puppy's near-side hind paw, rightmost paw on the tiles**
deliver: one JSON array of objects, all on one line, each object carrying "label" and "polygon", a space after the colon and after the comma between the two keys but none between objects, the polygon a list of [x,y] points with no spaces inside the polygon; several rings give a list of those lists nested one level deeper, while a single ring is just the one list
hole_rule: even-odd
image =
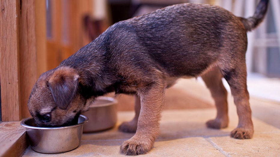
[{"label": "puppy's near-side hind paw, rightmost paw on the tiles", "polygon": [[244,129],[244,128],[235,128],[230,136],[238,139],[250,139],[253,137],[254,130],[253,129]]}]

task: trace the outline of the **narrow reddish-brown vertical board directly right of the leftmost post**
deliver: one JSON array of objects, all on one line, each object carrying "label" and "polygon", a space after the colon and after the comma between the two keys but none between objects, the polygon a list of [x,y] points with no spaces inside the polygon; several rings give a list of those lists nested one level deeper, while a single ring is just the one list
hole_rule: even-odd
[{"label": "narrow reddish-brown vertical board directly right of the leftmost post", "polygon": [[30,116],[27,102],[36,81],[37,70],[34,0],[22,1],[20,11],[20,92],[21,112],[24,118]]}]

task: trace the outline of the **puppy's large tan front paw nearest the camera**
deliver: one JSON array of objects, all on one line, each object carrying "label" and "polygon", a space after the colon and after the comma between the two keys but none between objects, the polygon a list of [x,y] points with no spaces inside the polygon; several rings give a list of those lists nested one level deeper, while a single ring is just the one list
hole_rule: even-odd
[{"label": "puppy's large tan front paw nearest the camera", "polygon": [[148,141],[149,140],[135,138],[135,136],[133,136],[129,140],[123,142],[120,146],[120,152],[130,156],[146,154],[153,147],[153,142],[149,143]]}]

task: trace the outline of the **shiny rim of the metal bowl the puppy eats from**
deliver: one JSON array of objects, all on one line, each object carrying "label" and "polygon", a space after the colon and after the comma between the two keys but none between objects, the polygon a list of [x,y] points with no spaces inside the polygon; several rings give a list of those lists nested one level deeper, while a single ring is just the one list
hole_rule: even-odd
[{"label": "shiny rim of the metal bowl the puppy eats from", "polygon": [[75,124],[75,125],[70,125],[70,126],[59,126],[59,127],[38,127],[38,126],[29,126],[25,124],[26,121],[33,119],[32,117],[25,118],[20,122],[20,125],[29,128],[29,129],[40,129],[40,130],[54,130],[54,129],[67,129],[67,128],[73,128],[73,127],[78,127],[81,125],[84,125],[85,123],[88,122],[88,117],[80,114],[79,117],[83,117],[85,120],[81,123]]}]

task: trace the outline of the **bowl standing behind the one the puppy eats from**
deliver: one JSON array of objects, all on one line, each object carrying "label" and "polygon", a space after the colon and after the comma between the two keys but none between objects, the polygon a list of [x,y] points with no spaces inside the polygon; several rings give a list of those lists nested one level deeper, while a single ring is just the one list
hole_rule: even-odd
[{"label": "bowl standing behind the one the puppy eats from", "polygon": [[117,122],[117,100],[100,96],[94,101],[88,111],[82,113],[89,118],[84,125],[84,132],[96,132],[112,128]]}]

